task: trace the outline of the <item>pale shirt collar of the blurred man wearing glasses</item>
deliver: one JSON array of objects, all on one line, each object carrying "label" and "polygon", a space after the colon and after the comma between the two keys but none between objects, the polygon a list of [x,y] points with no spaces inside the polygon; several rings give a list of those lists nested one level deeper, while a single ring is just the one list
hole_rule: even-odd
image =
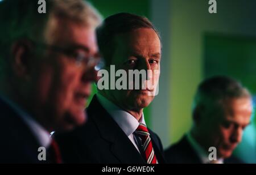
[{"label": "pale shirt collar of the blurred man wearing glasses", "polygon": [[48,147],[51,143],[50,134],[44,127],[42,127],[38,122],[35,121],[31,116],[29,116],[22,108],[20,108],[17,104],[13,101],[7,99],[7,97],[1,96],[0,97],[6,104],[8,104],[11,108],[15,110],[16,113],[19,114],[20,118],[27,124],[27,126],[31,129],[32,133],[35,135],[36,139],[40,146]]}]

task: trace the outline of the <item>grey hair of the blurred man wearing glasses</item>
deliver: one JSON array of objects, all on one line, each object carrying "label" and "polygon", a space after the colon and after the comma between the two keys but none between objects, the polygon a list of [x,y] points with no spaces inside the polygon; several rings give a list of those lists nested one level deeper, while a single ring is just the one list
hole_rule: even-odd
[{"label": "grey hair of the blurred man wearing glasses", "polygon": [[22,39],[44,41],[50,19],[70,20],[92,28],[102,21],[98,11],[82,0],[47,0],[46,14],[39,14],[39,6],[35,0],[0,2],[0,76],[10,69],[6,62],[12,43]]}]

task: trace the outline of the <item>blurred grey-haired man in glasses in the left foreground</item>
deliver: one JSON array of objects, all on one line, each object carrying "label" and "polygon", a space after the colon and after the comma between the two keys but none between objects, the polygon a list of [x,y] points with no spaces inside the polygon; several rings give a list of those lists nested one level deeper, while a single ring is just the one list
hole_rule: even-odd
[{"label": "blurred grey-haired man in glasses in the left foreground", "polygon": [[46,14],[38,7],[0,2],[0,163],[61,163],[49,133],[84,123],[96,80],[97,11],[82,0],[47,1]]}]

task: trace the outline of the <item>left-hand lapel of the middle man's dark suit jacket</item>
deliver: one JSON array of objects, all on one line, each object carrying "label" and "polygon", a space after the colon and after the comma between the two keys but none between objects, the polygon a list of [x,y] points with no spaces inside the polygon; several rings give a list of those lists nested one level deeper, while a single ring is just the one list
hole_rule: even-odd
[{"label": "left-hand lapel of the middle man's dark suit jacket", "polygon": [[110,151],[120,163],[145,163],[127,135],[98,102],[96,95],[88,107],[88,114],[96,123],[102,138],[111,143]]}]

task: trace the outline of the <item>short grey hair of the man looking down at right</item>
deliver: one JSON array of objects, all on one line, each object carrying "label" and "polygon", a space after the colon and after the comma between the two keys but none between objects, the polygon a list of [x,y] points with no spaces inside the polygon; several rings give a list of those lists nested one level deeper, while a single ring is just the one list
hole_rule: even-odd
[{"label": "short grey hair of the man looking down at right", "polygon": [[228,76],[213,76],[199,84],[193,101],[193,118],[199,115],[199,108],[213,112],[225,105],[226,100],[251,98],[247,88],[240,82]]}]

